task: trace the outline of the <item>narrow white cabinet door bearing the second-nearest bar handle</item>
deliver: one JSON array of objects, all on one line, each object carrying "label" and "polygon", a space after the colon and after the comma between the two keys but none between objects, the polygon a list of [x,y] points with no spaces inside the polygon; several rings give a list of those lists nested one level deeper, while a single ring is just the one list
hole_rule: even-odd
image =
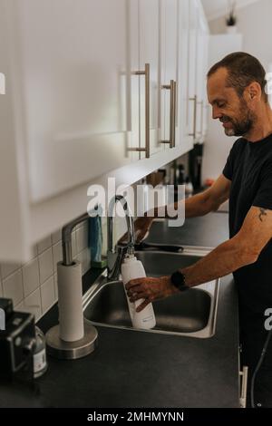
[{"label": "narrow white cabinet door bearing the second-nearest bar handle", "polygon": [[[161,136],[167,149],[174,148],[178,127],[178,1],[161,0]],[[171,83],[172,82],[172,83]],[[173,100],[171,102],[171,100]]]}]

